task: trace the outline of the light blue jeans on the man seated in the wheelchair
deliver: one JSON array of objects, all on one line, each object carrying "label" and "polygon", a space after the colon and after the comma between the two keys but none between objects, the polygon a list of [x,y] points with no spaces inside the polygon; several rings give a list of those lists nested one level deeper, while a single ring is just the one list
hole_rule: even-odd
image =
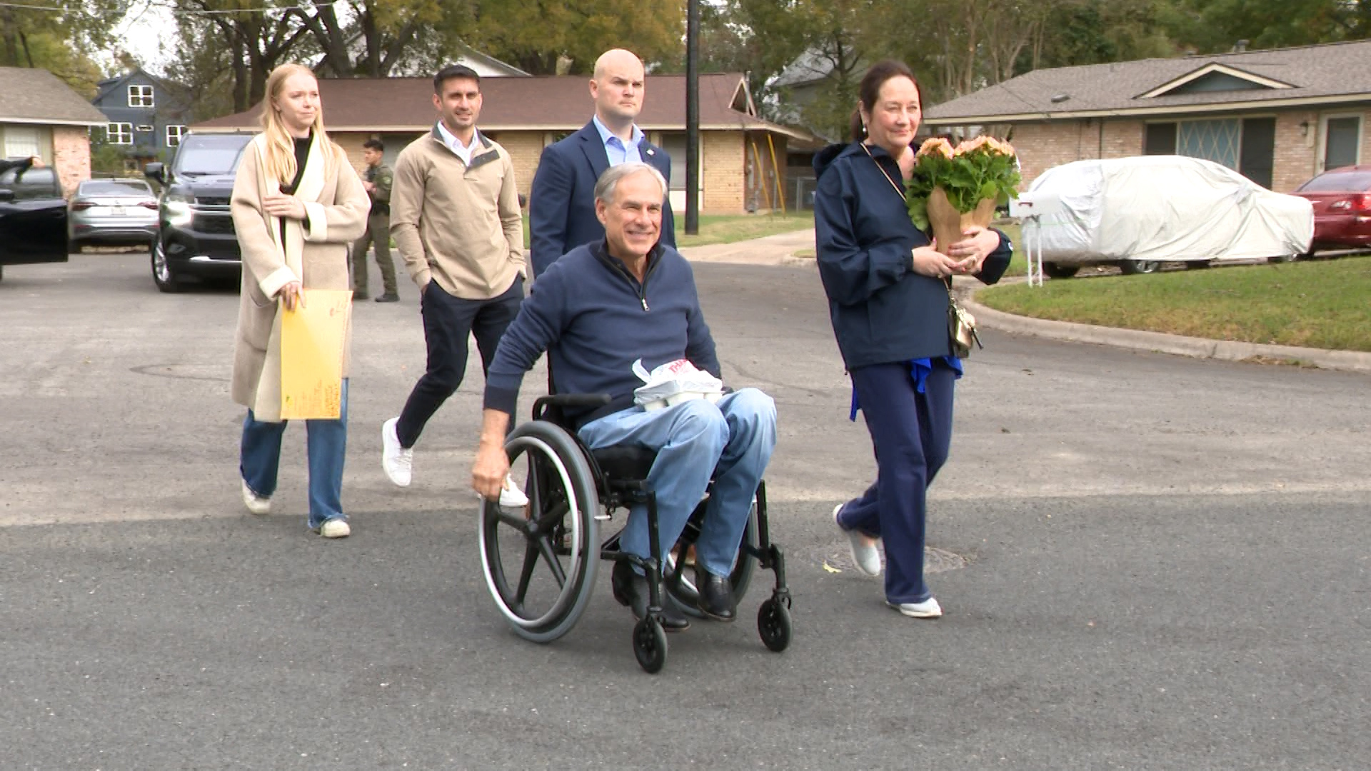
[{"label": "light blue jeans on the man seated in the wheelchair", "polygon": [[[753,494],[776,449],[776,403],[771,396],[743,388],[717,405],[695,399],[653,412],[632,407],[592,420],[579,434],[592,450],[613,444],[657,450],[647,482],[657,491],[662,549],[657,558],[662,562],[713,476],[714,490],[695,542],[695,562],[716,576],[732,572]],[[633,506],[620,549],[647,557],[647,506]]]}]

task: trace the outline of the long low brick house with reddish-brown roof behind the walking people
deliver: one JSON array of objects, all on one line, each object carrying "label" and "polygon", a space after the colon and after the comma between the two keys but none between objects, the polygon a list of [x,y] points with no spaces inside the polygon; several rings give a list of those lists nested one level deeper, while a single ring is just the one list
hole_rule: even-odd
[{"label": "long low brick house with reddish-brown roof behind the walking people", "polygon": [[[528,193],[543,148],[584,126],[594,112],[588,78],[481,78],[480,129],[509,150],[518,189]],[[647,75],[638,125],[672,156],[672,206],[686,210],[686,77]],[[380,139],[393,163],[406,144],[436,119],[432,78],[321,80],[329,136],[362,169],[362,143]],[[260,106],[191,126],[196,133],[255,132]],[[699,77],[699,180],[703,214],[780,209],[786,189],[786,143],[797,129],[757,117],[740,74]]]}]

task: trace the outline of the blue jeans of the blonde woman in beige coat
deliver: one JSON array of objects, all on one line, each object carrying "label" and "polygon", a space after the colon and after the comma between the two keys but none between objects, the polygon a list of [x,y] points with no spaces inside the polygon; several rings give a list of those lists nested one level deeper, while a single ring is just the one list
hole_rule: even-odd
[{"label": "blue jeans of the blonde woman in beige coat", "polygon": [[[281,435],[285,424],[262,423],[252,410],[243,418],[243,449],[239,472],[243,482],[258,495],[270,498],[276,493],[276,472],[281,465]],[[347,377],[343,379],[341,410],[337,420],[307,420],[307,447],[310,455],[310,527],[326,520],[341,519],[343,513],[343,458],[347,455]]]}]

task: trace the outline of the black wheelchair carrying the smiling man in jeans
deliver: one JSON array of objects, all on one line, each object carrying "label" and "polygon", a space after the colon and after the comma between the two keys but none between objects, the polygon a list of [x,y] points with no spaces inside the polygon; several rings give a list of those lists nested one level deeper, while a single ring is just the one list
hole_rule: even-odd
[{"label": "black wheelchair carrying the smiling man in jeans", "polygon": [[[487,587],[505,620],[518,637],[551,642],[576,626],[595,589],[600,560],[627,561],[648,576],[647,615],[633,626],[632,646],[638,664],[655,674],[666,664],[666,632],[662,628],[664,602],[673,602],[692,617],[696,608],[694,582],[686,575],[687,554],[699,538],[705,498],[690,521],[665,569],[657,528],[657,497],[647,483],[655,453],[636,446],[590,450],[570,431],[563,410],[596,407],[610,402],[607,394],[562,394],[542,396],[533,403],[533,420],[517,427],[505,442],[510,468],[522,473],[529,505],[524,510],[503,509],[481,502],[481,568]],[[600,523],[635,503],[647,508],[650,553],[628,554],[618,546],[622,528],[600,542]],[[743,531],[738,560],[729,575],[733,598],[742,600],[757,565],[776,576],[772,595],[757,612],[762,645],[786,650],[791,638],[791,597],[786,587],[786,560],[771,542],[766,521],[766,483],[757,494]]]}]

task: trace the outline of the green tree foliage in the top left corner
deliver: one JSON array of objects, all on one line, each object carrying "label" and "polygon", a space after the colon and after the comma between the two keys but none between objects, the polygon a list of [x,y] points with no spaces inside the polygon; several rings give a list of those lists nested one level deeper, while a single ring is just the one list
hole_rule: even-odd
[{"label": "green tree foliage in the top left corner", "polygon": [[[62,11],[43,3],[0,7],[0,67],[41,67],[84,96],[95,96],[100,67],[85,52],[110,45],[126,0],[63,3]],[[53,4],[56,5],[56,4]]]}]

